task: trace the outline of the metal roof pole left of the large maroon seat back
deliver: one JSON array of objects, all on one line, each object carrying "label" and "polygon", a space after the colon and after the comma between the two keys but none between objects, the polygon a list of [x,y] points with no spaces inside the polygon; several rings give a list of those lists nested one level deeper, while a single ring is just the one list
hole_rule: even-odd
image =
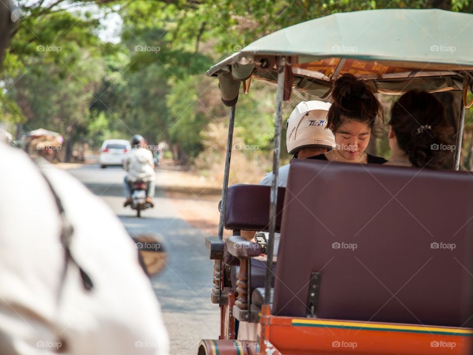
[{"label": "metal roof pole left of the large maroon seat back", "polygon": [[282,128],[282,101],[284,94],[284,70],[286,68],[286,57],[281,57],[277,65],[277,96],[276,96],[276,118],[274,122],[274,153],[272,158],[272,184],[270,194],[270,236],[267,248],[266,282],[265,282],[265,304],[270,304],[271,281],[272,281],[272,257],[274,254],[274,230],[276,229],[277,213],[277,182],[279,177],[279,152],[281,147]]}]

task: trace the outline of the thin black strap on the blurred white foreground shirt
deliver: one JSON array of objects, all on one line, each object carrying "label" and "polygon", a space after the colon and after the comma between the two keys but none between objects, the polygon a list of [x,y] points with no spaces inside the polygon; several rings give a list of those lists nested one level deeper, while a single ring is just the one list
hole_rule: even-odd
[{"label": "thin black strap on the blurred white foreground shirt", "polygon": [[51,190],[54,196],[54,199],[56,201],[56,206],[58,207],[58,210],[59,210],[59,223],[61,225],[60,241],[61,241],[61,245],[64,247],[65,257],[66,257],[66,260],[65,260],[66,267],[64,268],[63,275],[61,277],[62,284],[64,283],[64,280],[66,279],[69,262],[72,262],[79,269],[80,278],[82,281],[82,285],[84,286],[84,289],[86,291],[91,291],[94,288],[94,284],[92,283],[91,278],[89,277],[89,275],[87,275],[84,269],[82,269],[79,266],[79,264],[77,264],[77,262],[75,261],[74,257],[72,256],[70,252],[70,245],[71,245],[72,237],[74,235],[74,227],[70,223],[67,217],[67,213],[64,210],[63,204],[61,203],[61,199],[59,198],[58,194],[54,190],[53,185],[51,184],[51,181],[49,181],[49,179],[46,177],[46,174],[44,174],[44,172],[42,171],[41,166],[39,164],[36,164],[36,166],[39,169],[39,173],[42,175],[42,177],[48,184],[49,189]]}]

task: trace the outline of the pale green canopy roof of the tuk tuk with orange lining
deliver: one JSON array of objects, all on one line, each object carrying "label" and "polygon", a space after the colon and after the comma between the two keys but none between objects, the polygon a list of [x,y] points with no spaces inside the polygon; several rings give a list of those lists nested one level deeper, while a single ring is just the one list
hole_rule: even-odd
[{"label": "pale green canopy roof of the tuk tuk with orange lining", "polygon": [[[438,9],[337,13],[264,36],[207,75],[274,83],[277,57],[286,56],[293,87],[318,97],[328,95],[332,81],[347,72],[384,93],[461,90],[460,73],[473,72],[472,43],[472,14]],[[232,80],[221,81],[222,94],[232,85]]]}]

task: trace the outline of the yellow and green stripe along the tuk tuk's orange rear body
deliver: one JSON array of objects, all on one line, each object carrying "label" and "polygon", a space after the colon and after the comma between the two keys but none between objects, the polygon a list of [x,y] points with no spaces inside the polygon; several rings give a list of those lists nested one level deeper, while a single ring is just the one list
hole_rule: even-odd
[{"label": "yellow and green stripe along the tuk tuk's orange rear body", "polygon": [[421,334],[436,334],[436,335],[473,336],[473,329],[462,329],[462,328],[439,328],[439,327],[430,327],[430,326],[358,323],[358,322],[342,322],[342,321],[336,321],[336,320],[304,320],[304,319],[293,319],[291,323],[292,323],[292,326],[327,327],[327,328],[338,328],[338,329],[374,330],[374,331],[394,331],[394,332],[404,332],[404,333],[421,333]]}]

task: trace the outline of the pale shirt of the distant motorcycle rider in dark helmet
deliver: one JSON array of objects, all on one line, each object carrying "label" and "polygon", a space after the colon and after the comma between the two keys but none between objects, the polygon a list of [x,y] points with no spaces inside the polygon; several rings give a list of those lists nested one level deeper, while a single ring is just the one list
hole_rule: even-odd
[{"label": "pale shirt of the distant motorcycle rider in dark helmet", "polygon": [[145,148],[134,148],[124,158],[124,169],[128,172],[130,181],[154,180],[153,153]]}]

